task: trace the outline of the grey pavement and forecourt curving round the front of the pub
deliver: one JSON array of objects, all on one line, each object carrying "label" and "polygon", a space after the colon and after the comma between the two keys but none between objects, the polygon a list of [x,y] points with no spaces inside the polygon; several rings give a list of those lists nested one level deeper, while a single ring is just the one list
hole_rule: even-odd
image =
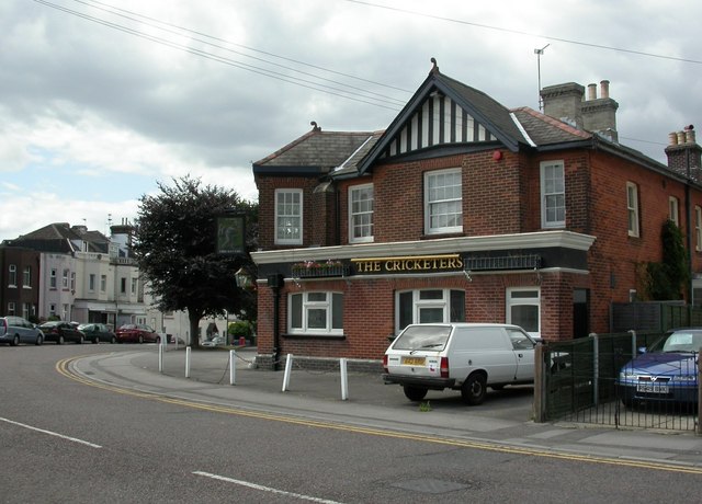
[{"label": "grey pavement and forecourt curving round the front of the pub", "polygon": [[[430,391],[422,404],[405,398],[399,386],[385,385],[380,374],[340,369],[312,371],[293,365],[272,370],[256,366],[256,348],[186,352],[169,345],[134,345],[134,352],[81,357],[70,370],[82,378],[197,403],[265,412],[281,417],[463,440],[485,449],[530,455],[616,459],[618,463],[672,467],[702,474],[702,436],[691,431],[622,429],[573,423],[534,423],[533,389],[506,387],[488,393],[479,406],[466,406],[458,392]],[[234,380],[233,380],[234,378]],[[285,379],[287,378],[287,381]],[[234,385],[231,385],[234,382]]]}]

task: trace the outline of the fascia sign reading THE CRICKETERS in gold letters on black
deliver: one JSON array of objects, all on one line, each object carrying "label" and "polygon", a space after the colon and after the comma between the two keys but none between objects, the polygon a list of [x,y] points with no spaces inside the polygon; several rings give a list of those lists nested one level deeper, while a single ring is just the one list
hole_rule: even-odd
[{"label": "fascia sign reading THE CRICKETERS in gold letters on black", "polygon": [[441,273],[463,270],[458,254],[352,259],[356,275]]}]

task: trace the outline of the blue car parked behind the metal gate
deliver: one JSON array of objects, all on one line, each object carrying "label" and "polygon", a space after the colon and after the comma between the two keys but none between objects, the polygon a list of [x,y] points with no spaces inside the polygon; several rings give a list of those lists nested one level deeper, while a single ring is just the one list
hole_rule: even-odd
[{"label": "blue car parked behind the metal gate", "polygon": [[616,386],[627,406],[642,402],[698,403],[702,328],[677,329],[622,367]]}]

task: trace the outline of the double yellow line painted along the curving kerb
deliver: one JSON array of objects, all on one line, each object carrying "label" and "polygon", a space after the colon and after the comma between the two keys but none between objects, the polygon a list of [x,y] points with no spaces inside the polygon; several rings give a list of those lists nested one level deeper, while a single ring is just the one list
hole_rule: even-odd
[{"label": "double yellow line painted along the curving kerb", "polygon": [[381,428],[374,428],[374,427],[363,427],[358,425],[347,425],[338,422],[301,419],[301,417],[287,416],[283,414],[276,414],[276,413],[268,413],[264,411],[244,410],[244,409],[234,408],[234,406],[227,406],[227,405],[220,405],[220,404],[208,404],[208,403],[196,402],[196,401],[191,401],[185,399],[171,398],[168,396],[161,396],[157,393],[141,392],[141,391],[132,390],[128,388],[122,388],[114,385],[107,385],[100,381],[90,380],[83,375],[80,375],[77,371],[73,371],[71,369],[71,364],[75,360],[78,360],[80,358],[82,357],[70,357],[70,358],[59,360],[58,363],[56,363],[56,370],[60,375],[65,376],[66,378],[69,378],[71,380],[78,381],[83,385],[88,385],[90,387],[97,387],[103,390],[109,390],[111,392],[137,397],[140,399],[148,399],[151,401],[163,402],[167,404],[174,404],[183,408],[208,411],[213,413],[246,416],[246,417],[258,419],[258,420],[268,420],[271,422],[283,422],[286,424],[303,425],[305,427],[329,428],[333,431],[349,432],[354,434],[364,434],[369,436],[382,436],[382,437],[389,437],[389,438],[396,438],[396,439],[408,439],[408,440],[431,443],[434,445],[445,445],[445,446],[458,447],[458,448],[480,449],[485,451],[522,455],[528,457],[551,458],[551,459],[557,459],[557,460],[569,460],[575,462],[601,463],[601,465],[608,465],[608,466],[653,469],[656,471],[702,474],[702,467],[655,462],[655,461],[647,461],[647,460],[633,460],[633,459],[630,460],[630,459],[619,459],[619,458],[610,458],[610,457],[598,457],[598,456],[590,456],[590,455],[566,454],[566,453],[558,453],[558,451],[548,451],[545,449],[537,449],[537,448],[500,445],[499,443],[494,443],[494,442],[455,439],[455,438],[448,438],[448,437],[438,437],[434,435],[429,436],[423,434],[403,433],[399,431],[388,431],[388,429],[381,429]]}]

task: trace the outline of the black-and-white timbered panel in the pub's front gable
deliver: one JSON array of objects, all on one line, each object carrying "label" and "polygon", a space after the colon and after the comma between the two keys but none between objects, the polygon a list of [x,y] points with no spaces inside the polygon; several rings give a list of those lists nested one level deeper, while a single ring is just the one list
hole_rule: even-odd
[{"label": "black-and-white timbered panel in the pub's front gable", "polygon": [[495,137],[461,105],[432,93],[389,141],[380,159],[443,144],[490,141]]}]

